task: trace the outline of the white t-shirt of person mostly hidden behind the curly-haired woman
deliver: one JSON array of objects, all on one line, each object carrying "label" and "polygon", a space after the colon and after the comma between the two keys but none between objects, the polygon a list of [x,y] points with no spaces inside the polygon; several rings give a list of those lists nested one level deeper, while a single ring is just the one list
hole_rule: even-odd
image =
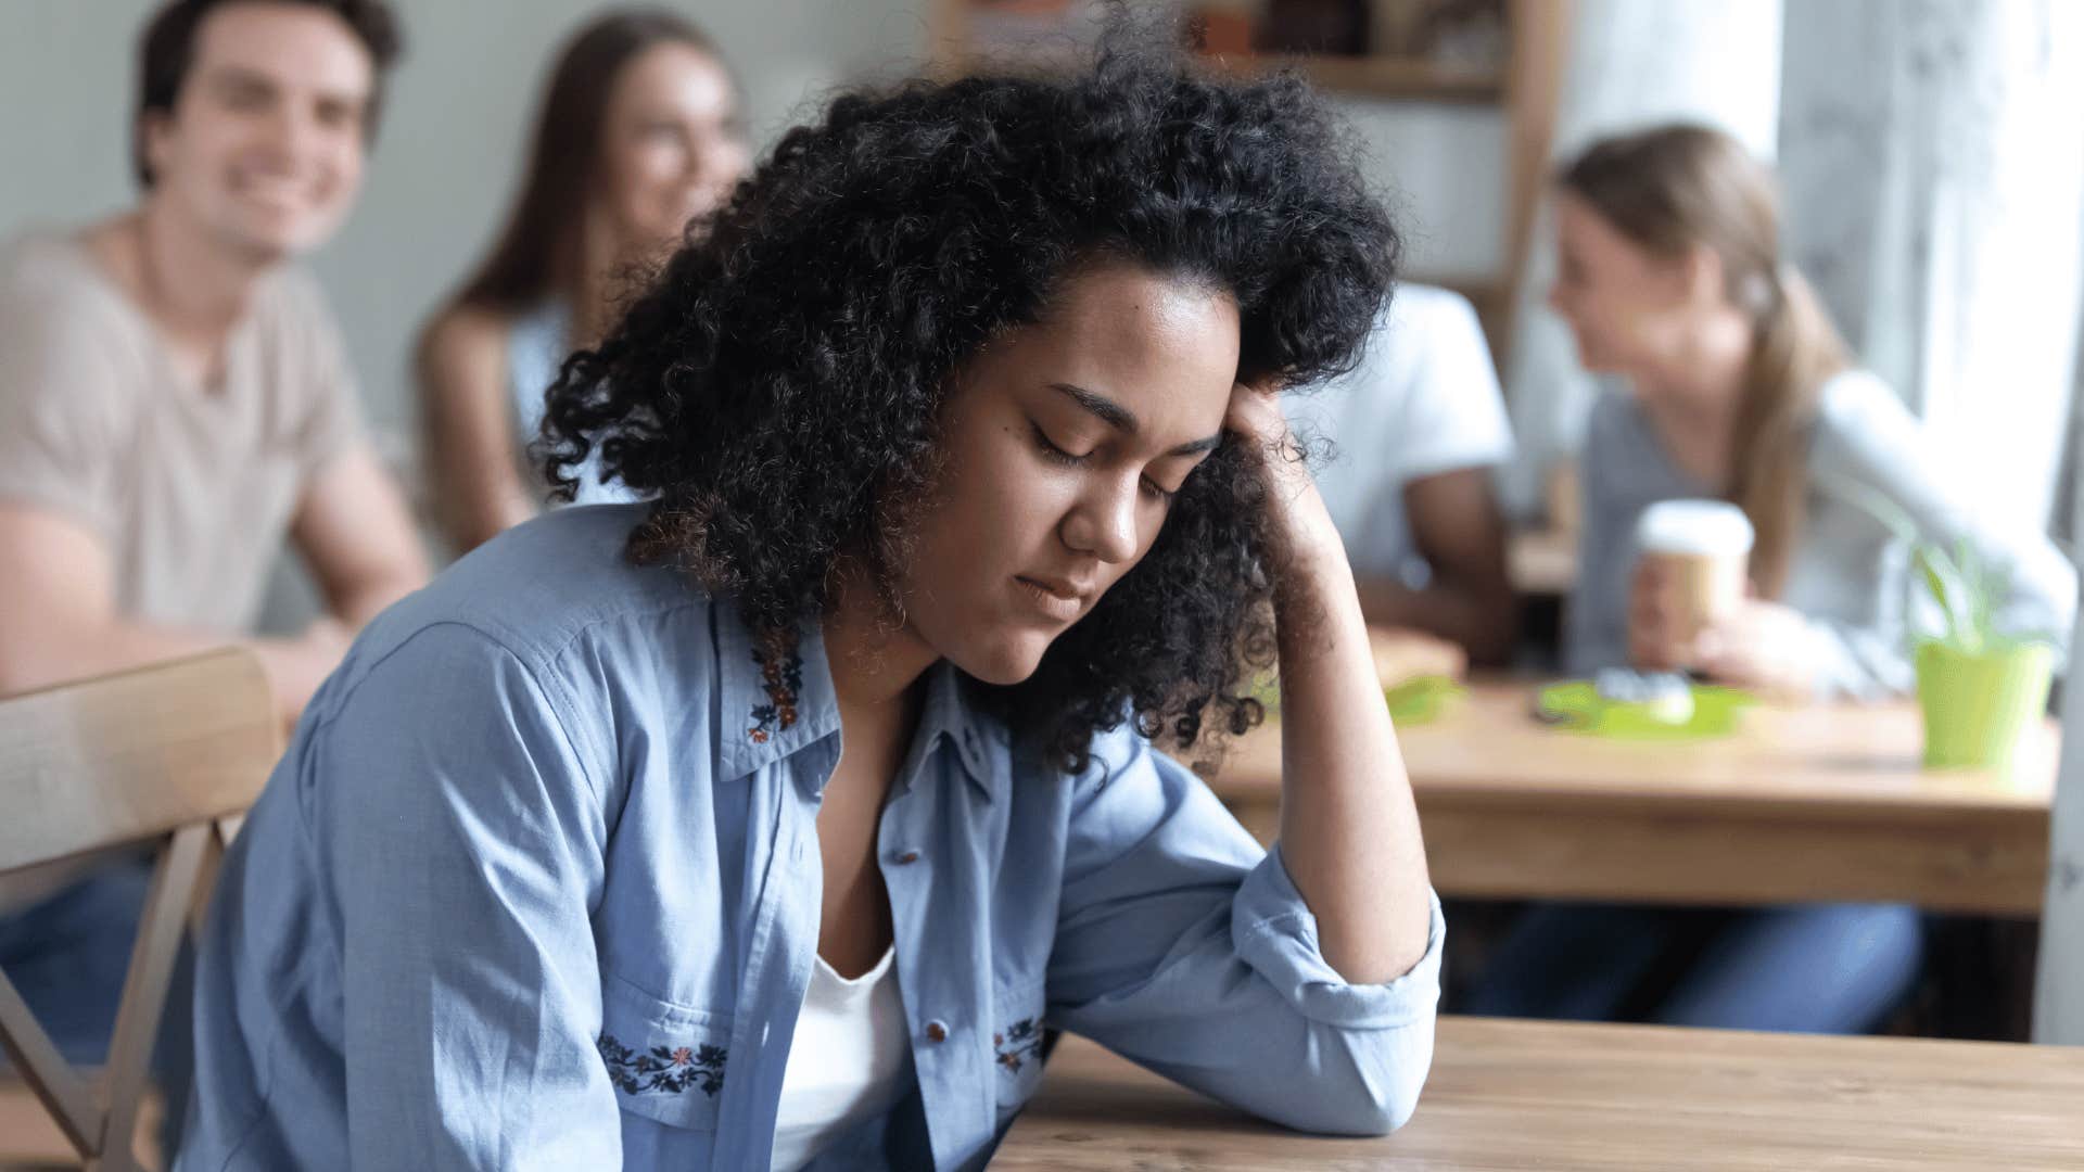
[{"label": "white t-shirt of person mostly hidden behind the curly-haired woman", "polygon": [[1330,440],[1317,490],[1346,542],[1353,571],[1419,586],[1405,486],[1513,455],[1505,394],[1484,327],[1461,294],[1398,286],[1353,373],[1284,396],[1302,436]]}]

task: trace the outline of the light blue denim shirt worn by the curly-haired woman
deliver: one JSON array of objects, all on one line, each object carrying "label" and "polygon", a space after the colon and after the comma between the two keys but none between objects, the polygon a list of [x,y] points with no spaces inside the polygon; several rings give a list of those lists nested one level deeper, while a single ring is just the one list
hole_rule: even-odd
[{"label": "light blue denim shirt worn by the curly-haired woman", "polygon": [[[840,715],[815,632],[627,565],[638,517],[490,542],[319,690],[223,868],[177,1168],[767,1168]],[[1067,776],[936,667],[877,851],[915,1086],[813,1166],[982,1166],[1044,1026],[1296,1128],[1413,1109],[1438,901],[1411,974],[1346,984],[1127,730]]]}]

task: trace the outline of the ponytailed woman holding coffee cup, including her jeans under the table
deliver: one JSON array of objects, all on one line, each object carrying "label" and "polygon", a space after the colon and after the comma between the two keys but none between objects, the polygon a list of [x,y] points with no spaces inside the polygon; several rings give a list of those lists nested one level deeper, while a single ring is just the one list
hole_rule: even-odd
[{"label": "ponytailed woman holding coffee cup, including her jeans under the table", "polygon": [[[1550,304],[1582,363],[1628,384],[1594,409],[1582,457],[1571,672],[1692,667],[1792,697],[1907,692],[1915,611],[1901,519],[2009,571],[2009,630],[2069,632],[2069,563],[2036,526],[1974,517],[1949,488],[1936,444],[1853,365],[1782,261],[1773,177],[1740,144],[1653,127],[1590,146],[1557,188]],[[1751,596],[1698,634],[1682,628],[1678,584],[1634,548],[1638,517],[1673,498],[1734,503],[1757,536]],[[1911,907],[1550,905],[1507,938],[1469,1007],[1859,1032],[1903,999],[1917,963]]]}]

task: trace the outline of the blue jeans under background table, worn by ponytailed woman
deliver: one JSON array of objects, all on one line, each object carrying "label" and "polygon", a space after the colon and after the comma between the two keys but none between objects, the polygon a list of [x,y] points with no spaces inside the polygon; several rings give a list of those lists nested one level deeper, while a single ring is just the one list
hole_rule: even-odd
[{"label": "blue jeans under background table, worn by ponytailed woman", "polygon": [[1696,911],[1544,903],[1500,941],[1469,1014],[1805,1034],[1878,1028],[1917,982],[1917,909]]}]

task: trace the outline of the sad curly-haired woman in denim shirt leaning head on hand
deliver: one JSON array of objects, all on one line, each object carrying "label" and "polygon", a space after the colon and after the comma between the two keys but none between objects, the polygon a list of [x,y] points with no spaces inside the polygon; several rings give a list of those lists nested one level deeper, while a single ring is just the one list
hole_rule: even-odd
[{"label": "sad curly-haired woman in denim shirt leaning head on hand", "polygon": [[[1273,390],[1396,238],[1296,79],[1115,44],[788,133],[379,619],[202,947],[188,1168],[975,1168],[1094,1036],[1382,1132],[1442,922]],[[1152,740],[1261,719],[1280,845]]]}]

